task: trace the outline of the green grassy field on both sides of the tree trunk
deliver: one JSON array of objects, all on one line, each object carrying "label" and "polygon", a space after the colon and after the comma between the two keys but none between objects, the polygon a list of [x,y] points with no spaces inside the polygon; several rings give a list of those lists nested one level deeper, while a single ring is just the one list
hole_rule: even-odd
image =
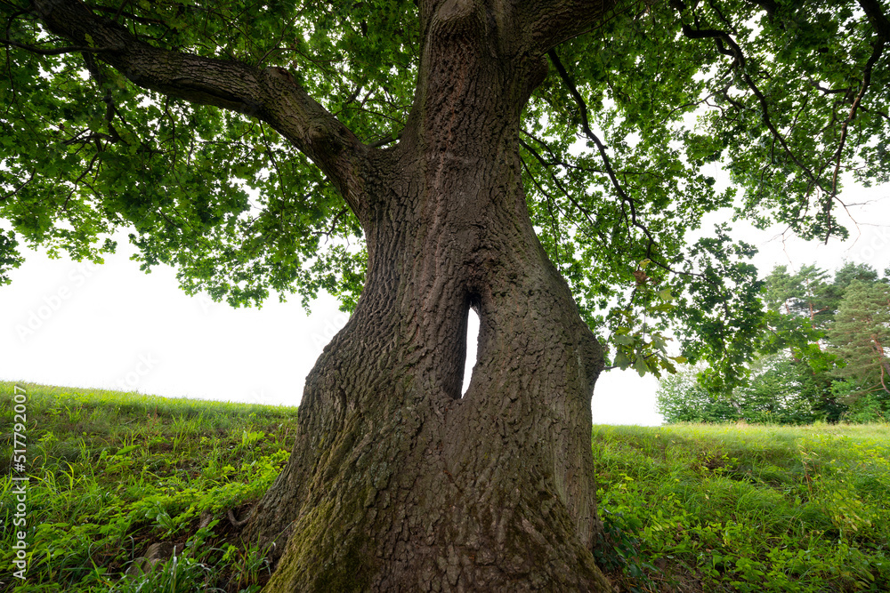
[{"label": "green grassy field on both sides of the tree trunk", "polygon": [[[0,382],[0,591],[262,588],[263,550],[229,511],[287,461],[295,408],[18,385]],[[621,590],[890,591],[888,425],[595,426],[593,451],[599,562]],[[135,570],[157,541],[184,551]]]}]

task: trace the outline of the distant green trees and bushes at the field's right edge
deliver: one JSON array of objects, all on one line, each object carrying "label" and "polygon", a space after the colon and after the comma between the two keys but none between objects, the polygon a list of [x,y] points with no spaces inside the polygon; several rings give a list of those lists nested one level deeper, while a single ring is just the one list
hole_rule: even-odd
[{"label": "distant green trees and bushes at the field's right edge", "polygon": [[685,368],[661,382],[667,422],[874,422],[890,418],[890,275],[846,263],[766,276],[757,357],[731,391]]}]

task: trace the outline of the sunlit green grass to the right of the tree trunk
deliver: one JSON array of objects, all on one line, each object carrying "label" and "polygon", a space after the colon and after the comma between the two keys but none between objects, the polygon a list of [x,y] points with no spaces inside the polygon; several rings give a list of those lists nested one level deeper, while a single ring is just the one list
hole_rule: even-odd
[{"label": "sunlit green grass to the right of the tree trunk", "polygon": [[890,427],[595,426],[627,591],[890,590]]}]

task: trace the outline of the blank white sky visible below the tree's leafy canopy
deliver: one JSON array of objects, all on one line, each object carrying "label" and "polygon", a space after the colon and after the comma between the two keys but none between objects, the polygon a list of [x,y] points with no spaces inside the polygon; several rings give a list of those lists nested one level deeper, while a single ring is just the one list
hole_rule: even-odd
[{"label": "blank white sky visible below the tree's leafy canopy", "polygon": [[[782,242],[778,231],[733,224],[760,248],[762,274],[775,264],[815,263],[833,271],[843,260],[890,266],[890,188],[851,188],[857,228],[845,244]],[[711,220],[714,222],[716,220]],[[345,323],[336,301],[321,298],[307,317],[298,299],[263,309],[232,309],[206,296],[189,297],[174,271],[150,275],[128,260],[125,236],[103,266],[49,260],[26,252],[0,287],[0,379],[49,385],[138,390],[195,397],[297,405],[303,380],[321,349]],[[471,327],[473,336],[476,327]],[[468,365],[475,357],[470,343]],[[656,425],[657,381],[634,371],[603,373],[593,399],[594,421]]]}]

